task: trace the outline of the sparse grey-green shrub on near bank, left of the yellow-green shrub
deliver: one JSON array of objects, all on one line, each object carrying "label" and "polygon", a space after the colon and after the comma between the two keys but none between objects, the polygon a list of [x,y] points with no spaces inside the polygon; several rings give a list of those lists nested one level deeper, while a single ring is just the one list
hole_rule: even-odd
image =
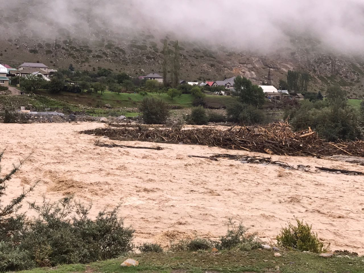
[{"label": "sparse grey-green shrub on near bank, left of the yellow-green shrub", "polygon": [[246,234],[248,229],[241,223],[235,226],[235,223],[229,219],[229,229],[225,236],[221,236],[218,248],[232,249],[240,248],[241,250],[257,249],[261,246],[261,241],[254,234]]}]

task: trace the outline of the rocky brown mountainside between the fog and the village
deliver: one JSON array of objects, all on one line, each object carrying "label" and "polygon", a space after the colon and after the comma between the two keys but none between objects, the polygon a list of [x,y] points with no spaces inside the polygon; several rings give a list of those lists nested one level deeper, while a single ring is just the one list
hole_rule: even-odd
[{"label": "rocky brown mountainside between the fog and the village", "polygon": [[[167,37],[168,38],[168,37]],[[128,37],[102,35],[86,39],[59,36],[58,67],[70,63],[77,69],[93,70],[98,67],[126,71],[137,76],[151,71],[161,73],[162,47],[165,39],[150,33]],[[170,48],[173,39],[168,39]],[[344,56],[325,52],[306,39],[294,42],[270,54],[234,52],[226,47],[213,47],[179,41],[181,46],[181,78],[191,81],[223,80],[234,75],[252,79],[254,83],[266,81],[270,68],[273,84],[286,78],[288,70],[301,70],[311,75],[310,91],[325,91],[327,86],[339,84],[353,98],[364,94],[364,61],[358,56]],[[25,35],[0,38],[0,62],[16,66],[22,62],[43,62],[54,66],[55,40],[44,40]]]}]

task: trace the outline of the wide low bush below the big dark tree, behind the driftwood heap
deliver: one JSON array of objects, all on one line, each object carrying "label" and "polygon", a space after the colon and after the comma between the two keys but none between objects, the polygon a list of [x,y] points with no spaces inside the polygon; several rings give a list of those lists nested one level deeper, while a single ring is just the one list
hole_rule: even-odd
[{"label": "wide low bush below the big dark tree, behind the driftwood heap", "polygon": [[265,120],[264,113],[256,107],[241,102],[233,102],[226,108],[227,116],[241,124],[262,123]]}]

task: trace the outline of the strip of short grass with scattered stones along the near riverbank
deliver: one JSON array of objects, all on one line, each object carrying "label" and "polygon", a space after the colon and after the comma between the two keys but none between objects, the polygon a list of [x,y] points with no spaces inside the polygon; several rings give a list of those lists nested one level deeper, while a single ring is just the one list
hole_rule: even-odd
[{"label": "strip of short grass with scattered stones along the near riverbank", "polygon": [[[283,273],[362,273],[364,257],[319,257],[318,254],[301,252],[280,252],[274,257],[273,251],[252,250],[243,252],[229,250],[221,253],[182,252],[147,253],[120,257],[115,260],[95,262],[88,265],[62,265],[57,268],[32,269],[27,273],[114,273],[114,272],[165,272],[165,273],[205,273],[205,272],[283,272]],[[125,268],[120,264],[126,258],[139,261],[139,266]],[[278,269],[279,267],[279,269]]]}]

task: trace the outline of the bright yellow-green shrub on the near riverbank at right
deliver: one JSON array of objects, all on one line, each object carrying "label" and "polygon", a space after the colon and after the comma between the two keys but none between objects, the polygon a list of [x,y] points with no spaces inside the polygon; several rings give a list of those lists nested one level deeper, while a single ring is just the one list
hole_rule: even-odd
[{"label": "bright yellow-green shrub on the near riverbank at right", "polygon": [[284,227],[281,233],[277,235],[277,244],[283,248],[309,251],[314,253],[322,253],[328,250],[323,242],[318,239],[317,233],[312,232],[312,226],[303,223],[295,218],[297,226],[288,223],[288,227]]}]

